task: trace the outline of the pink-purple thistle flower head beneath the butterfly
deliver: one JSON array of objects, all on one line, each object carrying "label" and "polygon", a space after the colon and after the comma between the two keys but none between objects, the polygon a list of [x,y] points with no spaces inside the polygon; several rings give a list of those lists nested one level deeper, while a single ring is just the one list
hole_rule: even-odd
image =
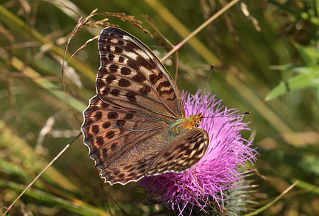
[{"label": "pink-purple thistle flower head beneath the butterfly", "polygon": [[154,195],[168,209],[179,210],[179,215],[187,205],[204,210],[211,201],[221,205],[219,208],[223,211],[225,191],[241,187],[244,182],[245,173],[239,169],[245,168],[248,161],[256,161],[256,148],[250,148],[252,143],[240,135],[241,130],[250,130],[247,123],[242,122],[243,115],[236,115],[236,109],[223,109],[215,95],[200,96],[200,92],[195,95],[182,92],[182,98],[186,117],[203,113],[199,127],[208,132],[210,139],[206,154],[184,173],[147,176],[138,183],[147,191],[147,198]]}]

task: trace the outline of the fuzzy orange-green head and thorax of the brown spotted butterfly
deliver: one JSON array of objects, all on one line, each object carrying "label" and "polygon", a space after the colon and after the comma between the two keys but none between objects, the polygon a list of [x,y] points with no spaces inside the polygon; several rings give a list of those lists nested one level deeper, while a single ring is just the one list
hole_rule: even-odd
[{"label": "fuzzy orange-green head and thorax of the brown spotted butterfly", "polygon": [[175,121],[171,125],[172,131],[179,134],[184,131],[194,129],[201,125],[201,119],[203,119],[203,114],[191,114],[189,117]]}]

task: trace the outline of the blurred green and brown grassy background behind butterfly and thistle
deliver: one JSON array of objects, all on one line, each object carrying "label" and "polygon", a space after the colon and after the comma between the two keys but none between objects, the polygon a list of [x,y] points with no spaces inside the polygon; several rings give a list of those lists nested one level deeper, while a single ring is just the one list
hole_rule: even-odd
[{"label": "blurred green and brown grassy background behind butterfly and thistle", "polygon": [[[254,139],[260,153],[251,166],[259,173],[250,179],[259,187],[252,194],[257,204],[250,207],[266,205],[300,180],[259,215],[319,215],[319,3],[244,2],[247,9],[233,6],[178,50],[177,85],[193,93],[203,89],[213,63],[206,91],[223,99],[228,108],[252,112],[245,116],[252,131],[242,134]],[[63,90],[63,52],[79,17],[94,9],[135,16],[154,38],[115,17],[97,15],[91,21],[109,18],[109,23],[133,34],[162,58],[171,48],[146,17],[177,45],[227,2],[2,0],[0,4],[0,205],[8,206],[79,133],[82,111],[95,95],[96,42],[80,50],[65,73],[74,113]],[[68,52],[74,53],[101,29],[79,30]],[[176,63],[176,55],[165,62],[173,77]],[[133,183],[103,184],[87,154],[81,136],[10,215],[149,215],[160,207],[138,202],[145,193],[132,188]]]}]

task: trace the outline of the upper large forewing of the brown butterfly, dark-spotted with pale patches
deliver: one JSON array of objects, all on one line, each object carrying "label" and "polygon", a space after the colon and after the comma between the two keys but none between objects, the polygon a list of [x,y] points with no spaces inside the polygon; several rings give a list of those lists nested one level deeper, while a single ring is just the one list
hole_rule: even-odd
[{"label": "upper large forewing of the brown butterfly, dark-spotted with pale patches", "polygon": [[104,102],[171,120],[184,117],[174,80],[137,38],[118,28],[106,28],[99,37],[99,52],[96,90]]}]

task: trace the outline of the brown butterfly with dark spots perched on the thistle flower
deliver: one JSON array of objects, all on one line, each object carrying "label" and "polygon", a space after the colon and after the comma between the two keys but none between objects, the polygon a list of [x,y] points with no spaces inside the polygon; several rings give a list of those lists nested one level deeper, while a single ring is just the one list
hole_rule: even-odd
[{"label": "brown butterfly with dark spots perched on the thistle flower", "polygon": [[197,128],[203,114],[185,117],[171,75],[130,33],[104,28],[98,45],[97,95],[84,111],[82,133],[101,178],[125,185],[194,166],[209,144]]}]

